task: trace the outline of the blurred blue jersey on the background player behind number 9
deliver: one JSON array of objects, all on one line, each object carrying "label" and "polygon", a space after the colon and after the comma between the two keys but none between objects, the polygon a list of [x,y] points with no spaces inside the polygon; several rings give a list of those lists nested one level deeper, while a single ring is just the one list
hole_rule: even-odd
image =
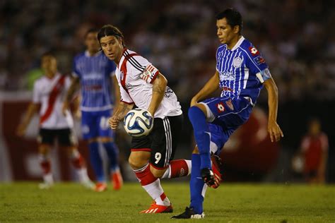
[{"label": "blurred blue jersey on the background player behind number 9", "polygon": [[112,109],[111,76],[115,64],[103,52],[90,56],[88,52],[74,58],[74,76],[81,81],[81,110],[104,111]]}]

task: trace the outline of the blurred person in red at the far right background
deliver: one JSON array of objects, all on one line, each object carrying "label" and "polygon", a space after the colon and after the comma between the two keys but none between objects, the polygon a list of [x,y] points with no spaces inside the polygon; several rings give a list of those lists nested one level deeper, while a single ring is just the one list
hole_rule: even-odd
[{"label": "blurred person in red at the far right background", "polygon": [[304,160],[303,173],[308,183],[324,183],[328,147],[328,137],[322,132],[319,119],[311,119],[308,132],[300,145],[300,154]]}]

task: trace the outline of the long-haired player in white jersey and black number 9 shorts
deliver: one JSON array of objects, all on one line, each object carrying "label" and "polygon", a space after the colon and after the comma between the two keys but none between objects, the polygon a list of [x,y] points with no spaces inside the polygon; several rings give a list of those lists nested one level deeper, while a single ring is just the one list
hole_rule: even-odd
[{"label": "long-haired player in white jersey and black number 9 shorts", "polygon": [[147,109],[154,117],[153,130],[148,136],[131,139],[129,164],[141,186],[153,198],[148,210],[141,213],[172,212],[170,200],[160,186],[160,178],[187,176],[189,160],[172,160],[182,135],[182,109],[177,96],[167,87],[167,80],[148,60],[124,44],[124,36],[112,25],[103,26],[98,40],[105,55],[117,64],[121,101],[110,118],[111,128],[136,105]]}]

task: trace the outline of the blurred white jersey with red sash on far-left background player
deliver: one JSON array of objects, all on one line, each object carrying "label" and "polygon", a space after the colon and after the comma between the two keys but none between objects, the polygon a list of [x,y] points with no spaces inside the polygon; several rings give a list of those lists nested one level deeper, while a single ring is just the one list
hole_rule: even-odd
[{"label": "blurred white jersey with red sash on far-left background player", "polygon": [[70,85],[70,78],[59,73],[54,78],[42,76],[35,81],[33,103],[41,104],[40,128],[60,129],[74,126],[70,111],[66,111],[66,116],[62,113],[64,98]]}]

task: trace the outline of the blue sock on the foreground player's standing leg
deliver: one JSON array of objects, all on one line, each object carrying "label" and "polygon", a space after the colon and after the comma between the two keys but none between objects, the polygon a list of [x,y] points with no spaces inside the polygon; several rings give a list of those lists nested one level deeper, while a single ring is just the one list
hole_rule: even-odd
[{"label": "blue sock on the foreground player's standing leg", "polygon": [[[200,174],[200,155],[192,154],[192,172],[191,181],[189,181],[189,189],[191,191],[191,204],[189,207],[193,207],[197,214],[201,214],[203,210],[202,204],[204,203],[204,196],[206,192],[204,187],[207,187],[204,181],[201,179]],[[204,194],[202,194],[204,192]]]}]

